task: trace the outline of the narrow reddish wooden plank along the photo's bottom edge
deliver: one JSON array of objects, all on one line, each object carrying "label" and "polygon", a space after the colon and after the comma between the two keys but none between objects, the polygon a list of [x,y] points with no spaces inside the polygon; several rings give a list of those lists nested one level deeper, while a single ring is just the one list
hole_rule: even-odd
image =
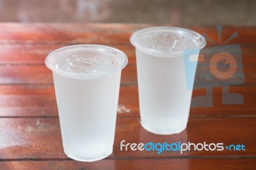
[{"label": "narrow reddish wooden plank along the photo's bottom edge", "polygon": [[210,158],[210,159],[138,159],[99,160],[79,162],[74,160],[51,161],[11,161],[0,162],[0,169],[255,169],[255,159]]}]

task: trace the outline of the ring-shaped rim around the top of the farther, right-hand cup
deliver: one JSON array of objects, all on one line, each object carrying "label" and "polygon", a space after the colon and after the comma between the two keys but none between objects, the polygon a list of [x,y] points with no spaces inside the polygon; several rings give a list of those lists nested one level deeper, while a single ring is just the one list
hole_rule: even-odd
[{"label": "ring-shaped rim around the top of the farther, right-hand cup", "polygon": [[[157,31],[157,30],[164,30],[164,31],[183,31],[183,32],[187,32],[187,33],[192,33],[193,35],[198,37],[198,42],[201,42],[198,46],[193,47],[193,48],[189,48],[189,49],[184,49],[184,50],[157,50],[157,49],[150,49],[148,47],[145,47],[143,45],[140,45],[140,43],[136,42],[136,37],[142,35],[143,33],[148,33],[148,32],[153,32],[153,31]],[[191,38],[193,39],[193,38]],[[143,52],[146,52],[148,54],[155,54],[156,56],[170,56],[170,54],[183,54],[183,52],[185,50],[191,50],[191,51],[195,51],[195,50],[200,50],[202,48],[205,47],[206,45],[206,41],[204,36],[200,35],[199,33],[197,33],[196,31],[192,31],[190,29],[186,29],[186,28],[182,28],[182,27],[168,27],[168,26],[163,26],[163,27],[147,27],[144,29],[140,29],[136,32],[134,32],[131,35],[130,38],[130,42],[131,44],[140,49]]]}]

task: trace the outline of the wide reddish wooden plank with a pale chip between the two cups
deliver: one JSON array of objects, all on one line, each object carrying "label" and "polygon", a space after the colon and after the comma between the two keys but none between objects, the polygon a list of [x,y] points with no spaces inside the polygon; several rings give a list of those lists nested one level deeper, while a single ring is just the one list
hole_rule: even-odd
[{"label": "wide reddish wooden plank with a pale chip between the two cups", "polygon": [[[221,88],[214,88],[212,107],[192,107],[190,116],[203,117],[253,117],[256,114],[256,88],[245,86],[230,86],[230,92],[240,93],[244,104],[222,104]],[[193,91],[193,97],[205,95],[205,89]],[[140,116],[138,87],[121,86],[119,95],[118,116]],[[53,85],[1,85],[0,86],[0,116],[1,117],[56,117],[58,109]]]}]

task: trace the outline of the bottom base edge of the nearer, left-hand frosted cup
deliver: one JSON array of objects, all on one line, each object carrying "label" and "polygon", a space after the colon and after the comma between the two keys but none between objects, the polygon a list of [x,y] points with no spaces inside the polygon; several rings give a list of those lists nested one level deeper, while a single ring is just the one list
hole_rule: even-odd
[{"label": "bottom base edge of the nearer, left-hand frosted cup", "polygon": [[74,160],[81,161],[81,162],[94,162],[94,161],[97,161],[97,160],[102,160],[103,158],[106,158],[109,155],[111,155],[111,153],[113,152],[113,148],[111,148],[108,151],[105,151],[105,153],[102,154],[102,155],[99,155],[97,157],[90,157],[90,158],[83,157],[83,155],[78,155],[76,153],[71,153],[71,152],[66,151],[66,150],[64,150],[64,152],[65,152],[65,154],[67,155],[68,158],[72,158]]}]

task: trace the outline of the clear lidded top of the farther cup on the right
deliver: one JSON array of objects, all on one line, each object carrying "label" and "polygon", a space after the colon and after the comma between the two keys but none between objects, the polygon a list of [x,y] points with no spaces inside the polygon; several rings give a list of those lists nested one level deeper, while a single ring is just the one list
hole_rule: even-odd
[{"label": "clear lidded top of the farther cup on the right", "polygon": [[160,57],[182,55],[184,50],[205,47],[204,36],[180,27],[149,27],[132,34],[130,41],[139,50]]}]

